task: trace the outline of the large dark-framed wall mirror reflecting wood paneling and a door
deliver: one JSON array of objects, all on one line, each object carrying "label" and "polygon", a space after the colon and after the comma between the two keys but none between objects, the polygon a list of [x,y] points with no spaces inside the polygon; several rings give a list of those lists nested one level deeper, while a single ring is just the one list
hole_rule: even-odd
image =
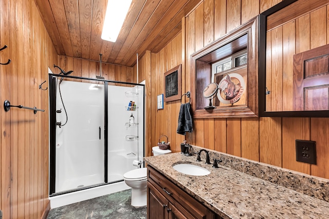
[{"label": "large dark-framed wall mirror reflecting wood paneling and a door", "polygon": [[328,6],[284,0],[260,14],[260,116],[329,117]]}]

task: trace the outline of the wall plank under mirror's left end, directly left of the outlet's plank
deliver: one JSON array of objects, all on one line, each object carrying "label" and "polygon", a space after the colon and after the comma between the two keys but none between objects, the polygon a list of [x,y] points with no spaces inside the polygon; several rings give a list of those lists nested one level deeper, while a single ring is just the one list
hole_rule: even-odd
[{"label": "wall plank under mirror's left end, directly left of the outlet's plank", "polygon": [[259,120],[260,162],[282,167],[282,119],[261,117]]}]

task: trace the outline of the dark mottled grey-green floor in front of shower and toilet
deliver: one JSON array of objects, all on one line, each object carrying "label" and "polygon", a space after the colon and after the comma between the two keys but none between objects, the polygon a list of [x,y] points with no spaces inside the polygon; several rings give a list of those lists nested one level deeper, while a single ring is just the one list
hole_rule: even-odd
[{"label": "dark mottled grey-green floor in front of shower and toilet", "polygon": [[131,206],[132,190],[124,190],[83,202],[50,209],[47,219],[142,219],[147,207]]}]

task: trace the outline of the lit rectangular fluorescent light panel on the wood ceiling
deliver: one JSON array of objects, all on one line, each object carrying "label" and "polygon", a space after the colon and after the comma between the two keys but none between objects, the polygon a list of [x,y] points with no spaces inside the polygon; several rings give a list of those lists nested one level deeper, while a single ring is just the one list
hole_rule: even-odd
[{"label": "lit rectangular fluorescent light panel on the wood ceiling", "polygon": [[132,0],[108,0],[101,38],[116,42]]}]

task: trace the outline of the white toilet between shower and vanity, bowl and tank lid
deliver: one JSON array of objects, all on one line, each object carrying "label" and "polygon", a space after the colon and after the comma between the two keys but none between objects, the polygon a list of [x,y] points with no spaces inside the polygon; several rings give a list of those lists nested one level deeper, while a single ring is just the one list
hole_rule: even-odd
[{"label": "white toilet between shower and vanity, bowl and tank lid", "polygon": [[[171,150],[160,150],[158,146],[152,148],[154,156],[171,153]],[[132,206],[147,205],[147,168],[138,168],[123,174],[123,180],[132,188]]]}]

